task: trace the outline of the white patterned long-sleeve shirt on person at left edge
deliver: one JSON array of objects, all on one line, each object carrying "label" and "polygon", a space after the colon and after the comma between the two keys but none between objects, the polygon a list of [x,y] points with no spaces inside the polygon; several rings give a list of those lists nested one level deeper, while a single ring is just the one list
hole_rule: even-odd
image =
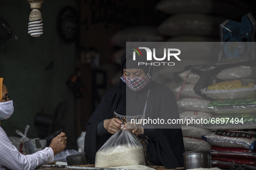
[{"label": "white patterned long-sleeve shirt on person at left edge", "polygon": [[41,164],[52,163],[54,153],[46,147],[34,154],[23,155],[9,140],[6,132],[0,127],[0,170],[33,170]]}]

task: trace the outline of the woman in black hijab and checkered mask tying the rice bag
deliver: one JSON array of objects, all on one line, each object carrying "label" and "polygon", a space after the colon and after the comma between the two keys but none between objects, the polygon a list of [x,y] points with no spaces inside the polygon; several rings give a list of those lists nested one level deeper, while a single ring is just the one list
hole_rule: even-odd
[{"label": "woman in black hijab and checkered mask tying the rice bag", "polygon": [[[137,60],[137,59],[136,59]],[[143,60],[143,58],[139,58]],[[138,61],[138,60],[137,60]],[[180,126],[129,126],[131,119],[178,119],[178,107],[172,91],[152,81],[152,66],[138,66],[132,55],[124,52],[121,59],[122,75],[104,95],[89,119],[84,140],[84,152],[89,164],[101,146],[121,128],[131,130],[143,145],[146,165],[165,166],[168,169],[184,167],[185,152]],[[128,123],[129,122],[129,123]],[[132,128],[132,129],[131,129]],[[172,128],[172,129],[171,129]]]}]

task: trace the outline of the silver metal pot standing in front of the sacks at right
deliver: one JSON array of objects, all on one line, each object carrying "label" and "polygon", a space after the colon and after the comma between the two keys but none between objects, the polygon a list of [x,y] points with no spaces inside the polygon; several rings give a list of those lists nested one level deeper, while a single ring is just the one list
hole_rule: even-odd
[{"label": "silver metal pot standing in front of the sacks at right", "polygon": [[183,154],[185,170],[194,168],[211,168],[211,152],[188,151]]}]

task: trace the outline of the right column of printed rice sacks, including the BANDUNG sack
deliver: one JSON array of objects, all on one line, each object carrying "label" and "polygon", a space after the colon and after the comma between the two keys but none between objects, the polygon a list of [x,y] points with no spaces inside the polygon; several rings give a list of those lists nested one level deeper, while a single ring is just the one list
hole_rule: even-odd
[{"label": "right column of printed rice sacks, including the BANDUNG sack", "polygon": [[205,125],[216,132],[202,136],[212,145],[212,167],[255,169],[255,76],[254,66],[233,66],[216,75],[221,82],[201,89],[202,94],[213,100],[207,105],[208,110],[217,114]]}]

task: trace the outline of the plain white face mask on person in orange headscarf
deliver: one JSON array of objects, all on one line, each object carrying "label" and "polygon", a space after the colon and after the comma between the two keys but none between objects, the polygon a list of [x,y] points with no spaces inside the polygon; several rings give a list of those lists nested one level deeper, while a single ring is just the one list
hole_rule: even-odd
[{"label": "plain white face mask on person in orange headscarf", "polygon": [[6,120],[14,111],[13,101],[0,102],[0,120]]}]

